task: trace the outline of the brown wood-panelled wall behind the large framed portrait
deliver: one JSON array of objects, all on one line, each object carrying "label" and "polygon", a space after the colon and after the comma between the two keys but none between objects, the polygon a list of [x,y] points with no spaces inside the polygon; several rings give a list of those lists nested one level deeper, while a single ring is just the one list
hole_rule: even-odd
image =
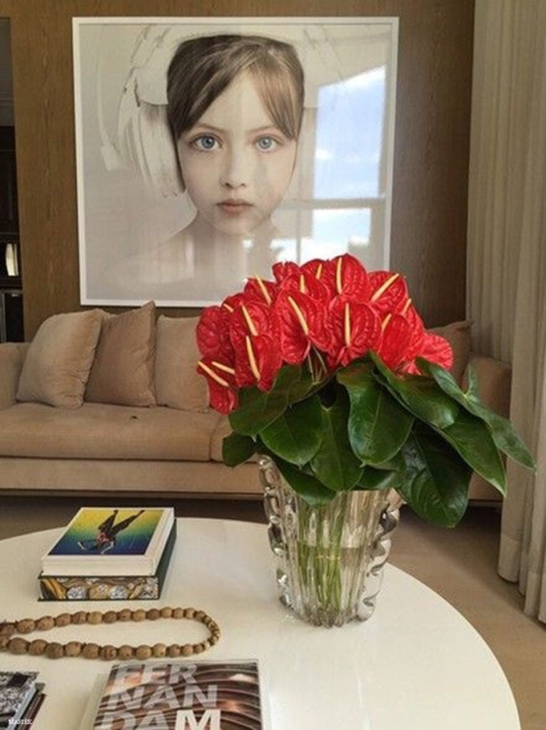
[{"label": "brown wood-panelled wall behind the large framed portrait", "polygon": [[474,0],[345,0],[335,10],[330,0],[0,0],[0,15],[12,28],[26,337],[80,308],[75,15],[398,16],[392,268],[429,326],[463,318]]}]

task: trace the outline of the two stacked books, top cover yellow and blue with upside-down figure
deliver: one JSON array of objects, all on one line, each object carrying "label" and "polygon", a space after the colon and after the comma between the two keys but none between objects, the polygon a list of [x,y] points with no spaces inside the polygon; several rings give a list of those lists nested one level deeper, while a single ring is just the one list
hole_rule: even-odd
[{"label": "two stacked books, top cover yellow and blue with upside-down figure", "polygon": [[41,599],[158,599],[175,539],[172,507],[82,507],[42,556]]}]

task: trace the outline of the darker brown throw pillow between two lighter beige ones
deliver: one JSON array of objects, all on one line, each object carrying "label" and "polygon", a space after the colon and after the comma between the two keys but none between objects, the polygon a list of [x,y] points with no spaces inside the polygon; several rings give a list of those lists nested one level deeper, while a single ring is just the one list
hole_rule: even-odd
[{"label": "darker brown throw pillow between two lighter beige ones", "polygon": [[156,305],[153,301],[121,315],[103,312],[86,401],[154,406],[155,349]]}]

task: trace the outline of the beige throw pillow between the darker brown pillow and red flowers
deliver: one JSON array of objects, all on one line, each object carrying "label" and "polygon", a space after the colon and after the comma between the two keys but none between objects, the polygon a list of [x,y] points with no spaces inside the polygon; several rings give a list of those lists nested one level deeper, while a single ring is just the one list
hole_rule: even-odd
[{"label": "beige throw pillow between the darker brown pillow and red flowers", "polygon": [[156,334],[156,399],[160,406],[206,410],[207,381],[195,372],[200,358],[195,328],[199,318],[160,316]]}]

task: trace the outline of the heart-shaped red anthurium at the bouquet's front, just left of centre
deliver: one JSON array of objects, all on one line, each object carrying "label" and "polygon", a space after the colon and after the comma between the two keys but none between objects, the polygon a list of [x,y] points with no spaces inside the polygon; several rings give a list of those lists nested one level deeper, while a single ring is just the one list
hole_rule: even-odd
[{"label": "heart-shaped red anthurium at the bouquet's front, just left of centre", "polygon": [[281,354],[285,362],[301,364],[312,345],[319,350],[328,350],[331,336],[325,304],[300,291],[281,290],[274,308],[278,315]]}]

